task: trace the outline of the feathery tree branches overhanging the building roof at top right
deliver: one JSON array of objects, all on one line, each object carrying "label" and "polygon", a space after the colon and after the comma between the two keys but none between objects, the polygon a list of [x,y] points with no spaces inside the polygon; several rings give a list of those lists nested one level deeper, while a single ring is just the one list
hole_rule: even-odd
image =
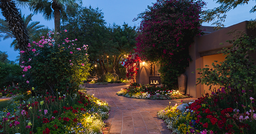
[{"label": "feathery tree branches overhanging the building roof at top right", "polygon": [[[250,0],[217,0],[216,3],[221,5],[217,8],[204,11],[202,20],[207,23],[209,23],[210,21],[214,21],[212,25],[216,25],[215,28],[217,29],[219,29],[220,27],[224,27],[223,23],[227,16],[226,13],[231,9],[235,9],[238,5],[248,4],[249,1]],[[250,10],[250,13],[254,13],[255,11],[256,5],[253,6],[253,8]],[[249,27],[255,28],[256,19],[251,19],[249,24]]]}]

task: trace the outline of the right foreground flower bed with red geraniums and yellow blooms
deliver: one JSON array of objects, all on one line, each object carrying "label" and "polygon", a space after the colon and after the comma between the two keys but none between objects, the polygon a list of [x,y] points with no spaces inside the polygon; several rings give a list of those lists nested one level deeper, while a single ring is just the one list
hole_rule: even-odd
[{"label": "right foreground flower bed with red geraniums and yellow blooms", "polygon": [[[247,105],[233,101],[230,107],[225,90],[189,102],[186,111],[173,107],[158,111],[157,115],[167,123],[172,134],[252,134],[256,131],[254,98],[244,99]],[[243,98],[243,95],[241,95]],[[235,100],[235,98],[233,98]],[[243,103],[244,103],[243,102]],[[222,104],[222,105],[221,105]]]}]

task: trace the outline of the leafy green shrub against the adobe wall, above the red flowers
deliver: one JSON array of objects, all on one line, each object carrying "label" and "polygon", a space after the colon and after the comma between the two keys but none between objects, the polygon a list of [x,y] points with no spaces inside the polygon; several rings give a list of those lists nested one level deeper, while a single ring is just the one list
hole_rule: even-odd
[{"label": "leafy green shrub against the adobe wall, above the red flowers", "polygon": [[224,55],[227,55],[225,61],[219,64],[212,63],[213,69],[198,69],[201,74],[197,79],[198,84],[217,85],[224,87],[226,91],[234,89],[234,92],[239,94],[245,90],[248,92],[247,95],[249,93],[254,95],[256,93],[256,65],[250,59],[250,54],[255,52],[256,39],[244,35],[237,40],[227,42],[233,46],[224,48],[222,51]]}]

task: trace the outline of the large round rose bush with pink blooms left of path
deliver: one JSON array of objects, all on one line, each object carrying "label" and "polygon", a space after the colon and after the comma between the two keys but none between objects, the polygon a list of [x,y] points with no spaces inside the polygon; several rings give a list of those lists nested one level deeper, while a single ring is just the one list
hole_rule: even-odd
[{"label": "large round rose bush with pink blooms left of path", "polygon": [[87,46],[77,47],[75,39],[68,38],[55,42],[55,35],[58,34],[50,31],[49,37],[33,42],[34,47],[24,60],[23,71],[29,84],[24,83],[23,89],[35,87],[37,92],[54,94],[58,89],[61,93],[73,93],[89,75]]}]

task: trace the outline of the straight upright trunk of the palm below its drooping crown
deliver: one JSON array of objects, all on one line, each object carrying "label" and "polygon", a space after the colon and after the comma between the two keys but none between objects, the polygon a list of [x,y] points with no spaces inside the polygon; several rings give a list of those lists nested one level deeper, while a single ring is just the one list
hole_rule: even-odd
[{"label": "straight upright trunk of the palm below its drooping crown", "polygon": [[54,27],[56,32],[60,32],[60,5],[53,0],[52,8],[54,10]]}]

